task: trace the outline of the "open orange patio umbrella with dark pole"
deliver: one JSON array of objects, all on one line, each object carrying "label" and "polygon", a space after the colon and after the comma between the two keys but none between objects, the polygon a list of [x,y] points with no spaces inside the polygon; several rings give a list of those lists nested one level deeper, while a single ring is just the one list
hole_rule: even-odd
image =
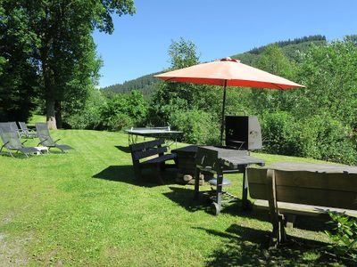
[{"label": "open orange patio umbrella with dark pole", "polygon": [[227,86],[260,87],[281,90],[305,87],[295,84],[286,78],[278,77],[261,69],[255,69],[231,58],[198,64],[184,69],[177,69],[155,75],[154,77],[170,82],[223,86],[220,142],[222,142],[223,137]]}]

